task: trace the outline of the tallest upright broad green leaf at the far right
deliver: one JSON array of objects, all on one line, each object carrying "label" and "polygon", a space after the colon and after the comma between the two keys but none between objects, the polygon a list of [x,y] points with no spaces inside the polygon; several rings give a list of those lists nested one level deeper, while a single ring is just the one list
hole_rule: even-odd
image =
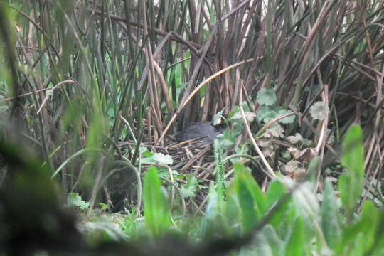
[{"label": "tallest upright broad green leaf at the far right", "polygon": [[347,220],[351,221],[364,186],[364,147],[361,127],[354,126],[346,134],[341,164],[347,171],[339,179],[338,188]]}]

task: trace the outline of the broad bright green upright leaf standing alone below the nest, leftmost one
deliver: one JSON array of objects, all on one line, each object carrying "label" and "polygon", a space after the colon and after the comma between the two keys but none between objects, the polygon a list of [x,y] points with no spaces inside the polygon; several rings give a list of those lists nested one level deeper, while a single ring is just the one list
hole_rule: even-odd
[{"label": "broad bright green upright leaf standing alone below the nest, leftmost one", "polygon": [[171,226],[170,210],[157,170],[151,167],[144,180],[144,216],[154,237],[164,235]]}]

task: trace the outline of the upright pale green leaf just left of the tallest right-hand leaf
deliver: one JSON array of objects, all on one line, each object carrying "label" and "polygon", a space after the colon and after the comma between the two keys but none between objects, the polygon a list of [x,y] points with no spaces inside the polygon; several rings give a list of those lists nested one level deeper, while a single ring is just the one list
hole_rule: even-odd
[{"label": "upright pale green leaf just left of the tallest right-hand leaf", "polygon": [[321,228],[329,247],[341,239],[340,215],[331,181],[326,179],[321,208]]}]

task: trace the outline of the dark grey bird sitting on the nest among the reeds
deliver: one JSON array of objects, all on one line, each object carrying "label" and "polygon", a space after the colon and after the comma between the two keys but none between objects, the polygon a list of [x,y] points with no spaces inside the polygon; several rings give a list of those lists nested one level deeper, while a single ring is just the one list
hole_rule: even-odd
[{"label": "dark grey bird sitting on the nest among the reeds", "polygon": [[[220,132],[209,122],[198,122],[195,124],[190,124],[180,132],[176,134],[176,139],[178,142],[185,142],[189,139],[198,139],[198,141],[213,144],[216,136]],[[202,138],[203,137],[203,138]]]}]

